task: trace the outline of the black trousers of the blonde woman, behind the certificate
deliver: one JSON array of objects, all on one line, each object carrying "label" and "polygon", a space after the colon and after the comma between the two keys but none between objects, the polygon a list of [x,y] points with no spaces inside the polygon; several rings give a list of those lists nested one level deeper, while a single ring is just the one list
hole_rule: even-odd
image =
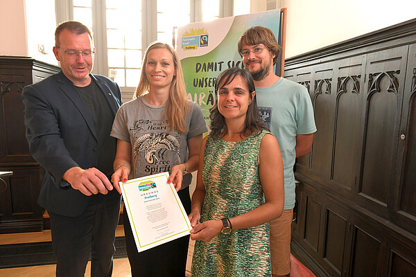
[{"label": "black trousers of the blonde woman, behind the certificate", "polygon": [[[177,193],[187,214],[191,212],[189,187]],[[127,213],[123,213],[125,246],[132,277],[184,277],[187,267],[189,235],[137,252]]]}]

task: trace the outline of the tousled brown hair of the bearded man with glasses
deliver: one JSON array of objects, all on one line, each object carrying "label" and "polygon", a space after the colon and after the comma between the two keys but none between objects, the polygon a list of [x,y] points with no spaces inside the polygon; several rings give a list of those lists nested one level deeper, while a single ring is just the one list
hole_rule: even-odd
[{"label": "tousled brown hair of the bearded man with glasses", "polygon": [[277,40],[275,35],[273,34],[272,30],[269,28],[265,28],[262,26],[254,26],[252,28],[248,28],[245,32],[240,36],[238,48],[239,53],[241,53],[243,49],[243,44],[245,45],[257,45],[257,44],[264,44],[268,50],[275,55],[273,59],[273,64],[276,64],[277,59],[279,58],[281,47],[277,44]]}]

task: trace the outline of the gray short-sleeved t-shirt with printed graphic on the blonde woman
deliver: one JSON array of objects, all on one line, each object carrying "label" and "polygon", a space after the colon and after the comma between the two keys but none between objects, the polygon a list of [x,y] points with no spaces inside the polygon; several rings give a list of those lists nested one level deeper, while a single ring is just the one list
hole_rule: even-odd
[{"label": "gray short-sleeved t-shirt with printed graphic on the blonde woman", "polygon": [[[188,140],[207,132],[200,106],[189,101],[186,120],[188,132],[168,130],[162,118],[162,106],[152,106],[144,96],[123,104],[114,119],[111,136],[132,145],[132,171],[129,178],[139,178],[170,171],[188,159]],[[182,189],[191,184],[192,175],[182,181]]]}]

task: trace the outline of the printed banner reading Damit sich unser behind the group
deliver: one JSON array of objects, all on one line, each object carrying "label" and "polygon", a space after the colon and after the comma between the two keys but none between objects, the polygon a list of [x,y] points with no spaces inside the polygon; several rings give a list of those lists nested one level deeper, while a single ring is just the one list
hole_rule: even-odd
[{"label": "printed banner reading Damit sich unser behind the group", "polygon": [[216,77],[233,66],[243,68],[237,49],[240,35],[252,26],[263,26],[272,30],[278,39],[280,17],[280,10],[270,10],[191,23],[177,29],[176,51],[184,72],[188,99],[200,105],[207,123],[209,108],[215,101]]}]

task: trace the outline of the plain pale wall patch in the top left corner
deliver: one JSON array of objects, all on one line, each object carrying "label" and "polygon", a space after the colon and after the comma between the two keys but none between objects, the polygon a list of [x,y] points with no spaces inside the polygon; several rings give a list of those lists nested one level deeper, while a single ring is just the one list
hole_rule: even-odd
[{"label": "plain pale wall patch in the top left corner", "polygon": [[0,55],[28,56],[24,0],[0,0]]}]

